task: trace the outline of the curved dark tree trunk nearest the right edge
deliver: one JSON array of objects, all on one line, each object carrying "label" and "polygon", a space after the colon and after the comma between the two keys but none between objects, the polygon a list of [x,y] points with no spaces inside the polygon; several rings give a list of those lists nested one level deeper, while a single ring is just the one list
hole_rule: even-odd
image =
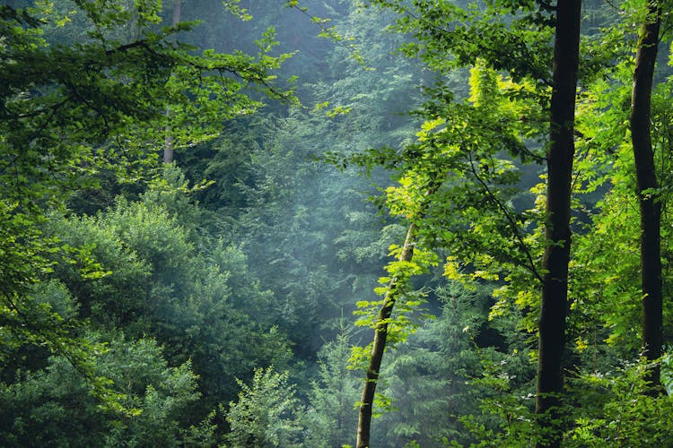
[{"label": "curved dark tree trunk nearest the right edge", "polygon": [[[661,356],[661,204],[654,168],[650,116],[654,63],[657,59],[661,9],[657,0],[648,2],[648,20],[642,24],[635,54],[634,90],[631,97],[631,141],[641,211],[642,349],[648,360]],[[651,369],[651,393],[662,392],[660,368]]]}]

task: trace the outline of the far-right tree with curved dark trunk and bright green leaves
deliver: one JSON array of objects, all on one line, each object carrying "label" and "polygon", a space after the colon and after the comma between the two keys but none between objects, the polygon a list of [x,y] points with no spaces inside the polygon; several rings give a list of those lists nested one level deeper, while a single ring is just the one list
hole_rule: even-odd
[{"label": "far-right tree with curved dark trunk and bright green leaves", "polygon": [[[656,47],[664,48],[659,42],[667,38],[660,32],[643,43],[652,39],[646,28],[656,21],[651,6],[622,5],[620,13],[628,19],[616,22],[613,31],[621,37],[615,42],[618,63],[581,94],[578,143],[589,157],[581,161],[576,184],[584,185],[588,199],[582,202],[591,220],[574,254],[572,296],[578,314],[572,331],[593,340],[591,346],[605,339],[601,349],[616,362],[646,356],[654,367],[648,379],[656,394],[662,391],[659,366],[652,362],[658,357],[647,353],[646,341],[657,346],[669,337],[662,319],[670,309],[662,289],[669,282],[668,218],[662,211],[669,184],[670,78],[666,65],[651,61],[650,66],[642,58],[661,53]],[[650,74],[643,79],[643,73]],[[651,188],[643,190],[643,183]]]}]

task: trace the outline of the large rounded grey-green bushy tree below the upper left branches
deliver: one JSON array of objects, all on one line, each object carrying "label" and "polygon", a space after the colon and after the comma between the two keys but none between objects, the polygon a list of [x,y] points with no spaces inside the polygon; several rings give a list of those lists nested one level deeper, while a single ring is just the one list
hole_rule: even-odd
[{"label": "large rounded grey-green bushy tree below the upper left branches", "polygon": [[158,185],[144,202],[119,200],[98,217],[60,221],[55,234],[70,246],[91,247],[107,274],[83,280],[71,268],[57,276],[93,325],[153,335],[171,361],[194,361],[208,396],[231,396],[234,378],[252,366],[285,362],[271,293],[249,273],[239,248],[189,231],[198,212],[180,199],[184,193]]}]

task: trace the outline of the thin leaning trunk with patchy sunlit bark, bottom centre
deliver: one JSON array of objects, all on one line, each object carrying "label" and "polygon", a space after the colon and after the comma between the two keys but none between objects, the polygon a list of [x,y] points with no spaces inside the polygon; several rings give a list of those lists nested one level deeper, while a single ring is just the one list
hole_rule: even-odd
[{"label": "thin leaning trunk with patchy sunlit bark, bottom centre", "polygon": [[[414,257],[416,226],[411,224],[406,232],[405,246],[402,254],[399,255],[399,261],[410,262]],[[383,306],[379,311],[379,317],[374,329],[374,341],[371,344],[371,355],[367,375],[363,386],[363,396],[360,401],[360,412],[357,424],[357,448],[367,448],[370,440],[371,429],[371,410],[373,407],[374,393],[376,392],[376,383],[379,381],[379,370],[383,352],[386,349],[386,340],[388,338],[388,322],[392,314],[395,301],[398,298],[398,279],[393,278],[388,285],[388,292],[383,297]]]}]

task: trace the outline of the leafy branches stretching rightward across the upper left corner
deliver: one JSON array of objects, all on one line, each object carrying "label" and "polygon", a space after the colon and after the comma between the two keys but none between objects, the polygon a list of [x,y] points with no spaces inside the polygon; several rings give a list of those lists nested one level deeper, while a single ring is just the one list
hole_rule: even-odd
[{"label": "leafy branches stretching rightward across the upper left corner", "polygon": [[[80,5],[101,26],[133,16],[132,10],[116,3]],[[135,4],[141,18],[154,16],[157,8],[156,2]],[[270,71],[289,56],[268,55],[273,34],[260,40],[258,56],[213,51],[198,56],[171,39],[187,25],[157,32],[140,20],[138,38],[99,36],[68,47],[48,46],[45,39],[31,35],[32,29],[11,25],[3,23],[3,58],[16,61],[2,67],[3,178],[14,189],[31,183],[31,188],[22,188],[24,200],[42,184],[77,185],[82,181],[78,174],[117,159],[118,153],[126,159],[132,159],[131,154],[141,158],[152,146],[161,147],[167,131],[177,146],[212,138],[223,119],[260,106],[242,91],[246,87],[257,85],[272,97],[291,98],[271,85],[275,81]],[[167,115],[169,106],[172,113]],[[21,157],[16,156],[19,148]],[[47,159],[40,159],[43,152]],[[6,175],[9,168],[12,177]]]}]

